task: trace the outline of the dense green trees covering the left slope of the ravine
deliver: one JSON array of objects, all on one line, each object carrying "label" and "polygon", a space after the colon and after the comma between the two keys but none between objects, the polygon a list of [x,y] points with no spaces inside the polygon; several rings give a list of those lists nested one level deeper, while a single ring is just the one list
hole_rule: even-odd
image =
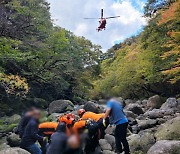
[{"label": "dense green trees covering the left slope of the ravine", "polygon": [[54,27],[45,0],[4,0],[0,9],[1,111],[87,98],[100,46]]}]

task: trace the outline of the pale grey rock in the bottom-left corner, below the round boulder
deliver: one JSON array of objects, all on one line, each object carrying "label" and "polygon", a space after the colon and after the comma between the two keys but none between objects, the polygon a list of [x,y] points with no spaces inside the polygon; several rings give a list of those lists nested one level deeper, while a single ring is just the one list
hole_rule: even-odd
[{"label": "pale grey rock in the bottom-left corner, below the round boulder", "polygon": [[28,151],[21,148],[6,148],[0,151],[0,154],[30,154]]}]

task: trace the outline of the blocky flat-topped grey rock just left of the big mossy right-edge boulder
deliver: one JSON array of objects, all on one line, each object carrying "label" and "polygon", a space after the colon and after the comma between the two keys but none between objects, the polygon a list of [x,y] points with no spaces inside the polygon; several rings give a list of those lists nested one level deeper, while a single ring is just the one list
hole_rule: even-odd
[{"label": "blocky flat-topped grey rock just left of the big mossy right-edge boulder", "polygon": [[138,126],[141,130],[151,128],[157,124],[157,120],[152,120],[152,119],[138,120],[137,122],[138,122]]}]

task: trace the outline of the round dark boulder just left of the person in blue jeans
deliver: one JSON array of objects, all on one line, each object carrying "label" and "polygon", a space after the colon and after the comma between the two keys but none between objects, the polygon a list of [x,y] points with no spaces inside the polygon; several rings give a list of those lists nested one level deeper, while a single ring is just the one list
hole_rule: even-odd
[{"label": "round dark boulder just left of the person in blue jeans", "polygon": [[12,133],[7,137],[7,142],[11,147],[17,147],[20,146],[21,139],[19,138],[19,135]]}]

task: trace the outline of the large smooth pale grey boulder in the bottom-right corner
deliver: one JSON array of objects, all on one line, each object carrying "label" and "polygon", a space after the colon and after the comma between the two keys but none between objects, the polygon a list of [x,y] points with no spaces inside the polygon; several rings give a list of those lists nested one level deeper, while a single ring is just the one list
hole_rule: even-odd
[{"label": "large smooth pale grey boulder in the bottom-right corner", "polygon": [[147,154],[179,154],[180,141],[161,140],[156,142],[147,152]]}]

